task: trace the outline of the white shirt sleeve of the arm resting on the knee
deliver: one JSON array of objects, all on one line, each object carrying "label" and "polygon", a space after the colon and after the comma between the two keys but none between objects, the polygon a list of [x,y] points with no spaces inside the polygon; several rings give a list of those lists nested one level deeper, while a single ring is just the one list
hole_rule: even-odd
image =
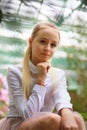
[{"label": "white shirt sleeve of the arm resting on the knee", "polygon": [[58,73],[58,85],[53,92],[53,97],[58,113],[63,108],[72,109],[72,103],[70,102],[71,97],[67,90],[65,73],[62,70]]}]

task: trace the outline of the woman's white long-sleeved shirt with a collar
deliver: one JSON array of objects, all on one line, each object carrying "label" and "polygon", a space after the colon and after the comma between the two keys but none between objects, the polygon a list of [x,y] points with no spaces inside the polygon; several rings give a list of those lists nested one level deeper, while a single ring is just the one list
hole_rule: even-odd
[{"label": "woman's white long-sleeved shirt with a collar", "polygon": [[[37,67],[31,62],[29,65],[32,74],[37,74]],[[52,112],[54,108],[59,112],[63,108],[72,108],[64,71],[58,68],[55,68],[54,71],[57,80],[48,72],[44,87],[35,83],[36,76],[32,78],[32,94],[26,100],[22,92],[22,67],[9,67],[7,74],[9,111],[7,116],[30,119],[37,112]],[[54,84],[54,79],[56,84]]]}]

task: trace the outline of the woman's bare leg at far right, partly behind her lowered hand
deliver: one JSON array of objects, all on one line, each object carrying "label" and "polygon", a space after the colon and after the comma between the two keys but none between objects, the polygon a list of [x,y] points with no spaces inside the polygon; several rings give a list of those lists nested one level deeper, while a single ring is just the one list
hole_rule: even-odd
[{"label": "woman's bare leg at far right, partly behind her lowered hand", "polygon": [[80,115],[80,113],[74,112],[74,117],[79,126],[79,130],[86,130],[85,122],[84,122],[82,116]]}]

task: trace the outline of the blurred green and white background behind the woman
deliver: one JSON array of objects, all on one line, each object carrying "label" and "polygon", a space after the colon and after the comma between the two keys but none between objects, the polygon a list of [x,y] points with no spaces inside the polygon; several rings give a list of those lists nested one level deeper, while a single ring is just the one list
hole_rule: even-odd
[{"label": "blurred green and white background behind the woman", "polygon": [[52,65],[65,70],[74,110],[87,119],[87,0],[0,0],[0,73],[20,64],[39,21],[55,23],[61,41]]}]

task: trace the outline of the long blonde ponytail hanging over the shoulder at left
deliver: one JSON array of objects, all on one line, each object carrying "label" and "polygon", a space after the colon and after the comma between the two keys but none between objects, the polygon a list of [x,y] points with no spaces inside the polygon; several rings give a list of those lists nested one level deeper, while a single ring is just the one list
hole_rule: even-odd
[{"label": "long blonde ponytail hanging over the shoulder at left", "polygon": [[23,69],[22,69],[22,88],[23,94],[28,99],[30,96],[30,84],[31,84],[31,75],[29,69],[29,59],[30,59],[30,47],[28,45],[26,53],[23,60]]}]

